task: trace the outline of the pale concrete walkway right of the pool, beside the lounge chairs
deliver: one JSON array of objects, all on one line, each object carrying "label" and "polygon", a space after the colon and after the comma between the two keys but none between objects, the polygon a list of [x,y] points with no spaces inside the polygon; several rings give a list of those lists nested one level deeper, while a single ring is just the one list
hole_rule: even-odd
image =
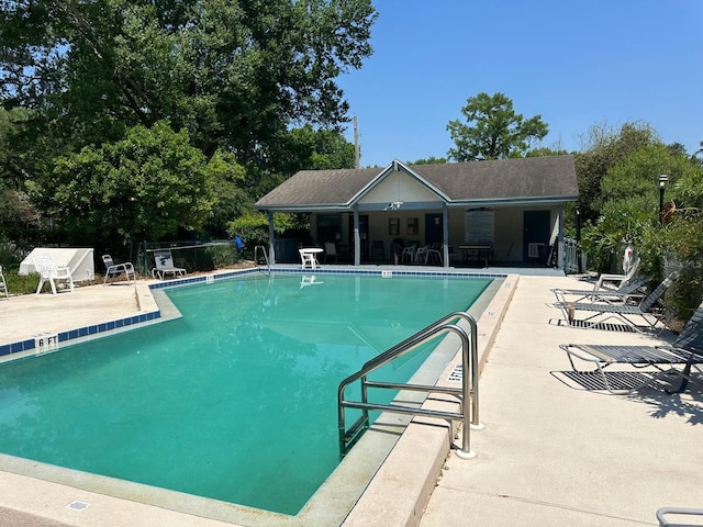
[{"label": "pale concrete walkway right of the pool, beside the lounge chairs", "polygon": [[478,456],[449,456],[421,527],[654,526],[659,507],[703,506],[701,375],[680,395],[565,384],[559,344],[651,338],[548,324],[559,285],[578,281],[520,278],[481,378]]}]

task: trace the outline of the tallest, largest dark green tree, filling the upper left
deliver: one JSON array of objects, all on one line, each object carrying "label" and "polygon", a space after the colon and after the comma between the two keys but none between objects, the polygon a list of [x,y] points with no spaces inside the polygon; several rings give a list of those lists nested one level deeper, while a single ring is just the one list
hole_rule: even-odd
[{"label": "tallest, largest dark green tree, filling the upper left", "polygon": [[370,56],[370,0],[8,0],[0,97],[74,149],[168,120],[276,171],[291,122],[347,120],[335,79]]}]

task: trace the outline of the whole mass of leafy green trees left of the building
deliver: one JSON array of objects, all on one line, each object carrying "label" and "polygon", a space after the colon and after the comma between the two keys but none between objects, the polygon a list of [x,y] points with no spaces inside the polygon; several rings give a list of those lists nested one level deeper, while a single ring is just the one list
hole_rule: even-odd
[{"label": "whole mass of leafy green trees left of the building", "polygon": [[124,244],[131,212],[152,239],[225,235],[282,178],[353,162],[336,78],[376,18],[370,0],[8,0],[0,191],[30,189],[87,244]]}]

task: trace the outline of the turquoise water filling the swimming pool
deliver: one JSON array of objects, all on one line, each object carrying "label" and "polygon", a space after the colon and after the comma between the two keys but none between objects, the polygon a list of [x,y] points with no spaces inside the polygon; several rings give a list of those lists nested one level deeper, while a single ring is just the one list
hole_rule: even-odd
[{"label": "turquoise water filling the swimming pool", "polygon": [[[182,318],[2,365],[0,451],[297,514],[339,461],[339,381],[490,283],[316,281],[172,289]],[[383,379],[408,380],[427,352]]]}]

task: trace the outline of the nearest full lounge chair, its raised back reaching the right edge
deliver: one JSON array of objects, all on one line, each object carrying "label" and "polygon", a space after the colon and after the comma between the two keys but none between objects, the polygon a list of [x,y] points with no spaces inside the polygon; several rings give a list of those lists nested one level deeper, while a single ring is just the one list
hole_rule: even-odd
[{"label": "nearest full lounge chair, its raised back reaching the right edge", "polygon": [[[618,393],[612,388],[607,380],[605,371],[606,367],[615,363],[626,363],[639,368],[654,367],[656,369],[655,378],[648,379],[644,384],[649,384],[656,378],[665,374],[677,374],[682,378],[681,385],[676,390],[667,390],[670,393],[685,390],[691,368],[696,365],[703,365],[703,303],[693,313],[691,319],[687,323],[679,338],[671,345],[661,346],[616,346],[616,345],[591,345],[591,344],[561,344],[561,349],[567,352],[571,368],[576,372],[580,372],[573,359],[591,362],[595,369],[588,373],[599,373],[603,381],[603,385],[611,393]],[[683,366],[683,370],[676,369],[677,366]],[[580,372],[583,373],[583,372]],[[636,388],[641,388],[643,384]],[[636,389],[635,388],[635,389]],[[634,389],[629,389],[632,391]]]}]

